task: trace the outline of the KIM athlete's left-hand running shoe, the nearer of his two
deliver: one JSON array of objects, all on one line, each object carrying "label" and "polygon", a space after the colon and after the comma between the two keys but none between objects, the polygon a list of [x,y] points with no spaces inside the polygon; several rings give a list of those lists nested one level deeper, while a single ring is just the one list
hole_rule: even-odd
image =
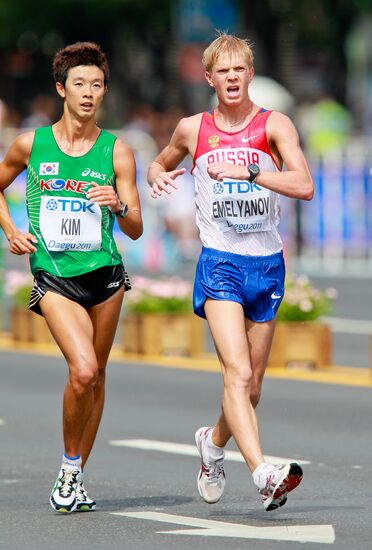
[{"label": "KIM athlete's left-hand running shoe, the nearer of his two", "polygon": [[70,514],[77,506],[76,486],[81,475],[81,469],[62,464],[52,492],[50,505],[56,512]]}]

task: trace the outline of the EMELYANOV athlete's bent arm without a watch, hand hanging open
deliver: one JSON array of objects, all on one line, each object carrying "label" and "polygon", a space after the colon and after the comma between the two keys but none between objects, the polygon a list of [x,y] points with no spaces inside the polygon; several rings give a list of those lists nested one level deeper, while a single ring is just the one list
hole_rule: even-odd
[{"label": "EMELYANOV athlete's bent arm without a watch, hand hanging open", "polygon": [[177,189],[175,179],[184,174],[186,169],[177,166],[196,147],[198,134],[198,115],[182,118],[176,126],[169,144],[150,164],[147,181],[151,187],[151,196],[156,199],[163,192],[171,193],[171,188]]}]

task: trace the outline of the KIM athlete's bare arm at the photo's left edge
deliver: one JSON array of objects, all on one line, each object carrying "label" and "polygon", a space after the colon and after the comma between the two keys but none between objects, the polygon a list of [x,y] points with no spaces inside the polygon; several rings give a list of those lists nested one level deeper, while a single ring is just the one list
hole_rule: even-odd
[{"label": "KIM athlete's bare arm at the photo's left edge", "polygon": [[31,154],[34,132],[21,134],[9,147],[7,154],[0,162],[0,225],[9,241],[9,250],[13,254],[32,254],[36,251],[32,243],[36,238],[31,233],[22,233],[14,225],[4,197],[4,190],[27,167]]}]

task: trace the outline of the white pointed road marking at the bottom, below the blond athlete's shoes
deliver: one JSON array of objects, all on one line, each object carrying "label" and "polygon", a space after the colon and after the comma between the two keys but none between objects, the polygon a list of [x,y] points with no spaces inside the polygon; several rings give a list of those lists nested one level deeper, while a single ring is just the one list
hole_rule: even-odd
[{"label": "white pointed road marking at the bottom, below the blond athlete's shoes", "polygon": [[265,525],[264,527],[254,527],[251,525],[163,514],[161,512],[112,512],[112,514],[128,518],[198,527],[198,529],[157,531],[159,534],[286,540],[290,542],[313,542],[319,544],[333,544],[336,538],[332,525],[282,525],[273,527]]}]

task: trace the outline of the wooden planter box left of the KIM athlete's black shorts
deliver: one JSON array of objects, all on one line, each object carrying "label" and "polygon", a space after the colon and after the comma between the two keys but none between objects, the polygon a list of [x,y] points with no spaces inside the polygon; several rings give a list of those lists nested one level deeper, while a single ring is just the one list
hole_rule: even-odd
[{"label": "wooden planter box left of the KIM athlete's black shorts", "polygon": [[25,308],[12,308],[9,312],[10,333],[15,342],[54,342],[44,317]]}]

